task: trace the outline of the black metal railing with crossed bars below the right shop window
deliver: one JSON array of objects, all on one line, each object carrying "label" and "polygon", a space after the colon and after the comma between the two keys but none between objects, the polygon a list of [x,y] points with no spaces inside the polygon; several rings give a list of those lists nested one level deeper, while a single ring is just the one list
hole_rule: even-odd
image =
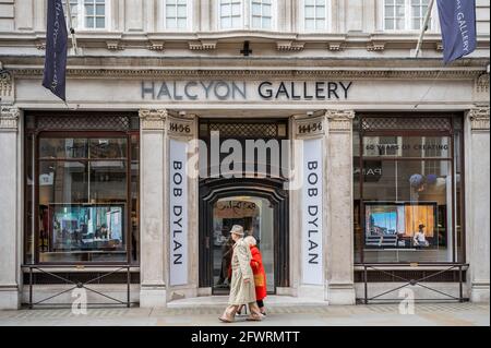
[{"label": "black metal railing with crossed bars below the right shop window", "polygon": [[[430,290],[432,292],[439,293],[442,297],[441,298],[415,298],[415,301],[458,301],[458,302],[465,302],[468,301],[469,299],[464,297],[464,271],[468,268],[468,264],[464,264],[464,263],[459,263],[459,264],[450,264],[450,263],[441,263],[441,264],[420,264],[420,263],[406,263],[406,264],[380,264],[380,263],[374,263],[374,264],[360,264],[357,266],[361,266],[363,267],[363,283],[364,283],[364,297],[361,299],[357,299],[358,302],[364,303],[364,304],[369,304],[370,302],[385,302],[385,303],[390,303],[390,302],[400,302],[402,299],[397,298],[386,298],[385,296],[395,291],[398,291],[403,288],[406,288],[408,286],[419,286],[421,288],[424,288],[427,290]],[[392,272],[395,268],[410,268],[410,269],[416,269],[416,271],[421,271],[421,269],[434,269],[435,267],[440,267],[441,269],[439,269],[438,272],[431,273],[429,275],[426,275],[421,278],[411,278],[408,279],[406,277],[399,276],[396,273]],[[432,288],[426,284],[426,281],[431,281],[431,278],[438,277],[439,275],[446,273],[446,272],[454,272],[457,271],[458,272],[458,297],[444,292],[442,290]],[[375,296],[371,296],[369,297],[369,281],[368,281],[368,274],[369,272],[379,272],[385,275],[388,275],[395,279],[400,280],[402,283],[404,283],[403,285],[396,286],[392,289],[385,290],[381,293],[378,293]]]}]

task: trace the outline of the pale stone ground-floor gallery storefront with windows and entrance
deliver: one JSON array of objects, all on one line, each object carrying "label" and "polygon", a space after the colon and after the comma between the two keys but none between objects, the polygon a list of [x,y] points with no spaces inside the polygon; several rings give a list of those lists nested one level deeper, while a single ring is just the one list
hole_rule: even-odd
[{"label": "pale stone ground-floor gallery storefront with windows and entrance", "polygon": [[235,224],[271,295],[354,304],[423,279],[421,299],[489,299],[484,61],[86,59],[69,108],[33,58],[3,61],[2,307],[65,279],[116,298],[129,283],[141,307],[225,295]]}]

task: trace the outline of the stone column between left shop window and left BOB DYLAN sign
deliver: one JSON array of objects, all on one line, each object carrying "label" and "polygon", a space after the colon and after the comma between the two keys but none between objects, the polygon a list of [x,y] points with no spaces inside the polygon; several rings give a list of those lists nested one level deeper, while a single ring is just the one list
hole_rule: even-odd
[{"label": "stone column between left shop window and left BOB DYLAN sign", "polygon": [[140,307],[164,308],[167,298],[167,110],[140,110],[141,260]]}]

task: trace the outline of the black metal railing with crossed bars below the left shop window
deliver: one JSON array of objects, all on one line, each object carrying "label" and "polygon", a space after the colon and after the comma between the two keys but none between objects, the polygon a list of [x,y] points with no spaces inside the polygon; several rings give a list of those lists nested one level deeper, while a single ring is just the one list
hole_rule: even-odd
[{"label": "black metal railing with crossed bars below the left shop window", "polygon": [[[87,291],[91,291],[93,293],[96,293],[103,298],[106,298],[108,300],[110,300],[111,302],[97,302],[97,303],[87,303],[87,305],[110,305],[110,304],[118,304],[118,305],[125,305],[127,308],[130,308],[131,305],[131,265],[81,265],[81,266],[74,266],[74,265],[23,265],[22,266],[24,269],[28,269],[28,275],[29,275],[29,281],[28,281],[28,286],[29,286],[29,297],[28,297],[28,308],[29,309],[34,309],[35,305],[51,305],[51,307],[63,307],[63,305],[72,305],[72,303],[50,303],[48,302],[49,300],[52,300],[56,297],[59,297],[63,293],[73,291],[74,289],[85,289]],[[76,275],[76,273],[71,273],[72,277],[68,278],[67,276],[62,276],[60,274],[53,273],[52,271],[49,272],[48,269],[65,269],[65,268],[76,268],[79,269],[79,272],[81,269],[85,269],[85,268],[101,268],[105,269],[104,272],[98,272],[98,275],[94,278],[91,278],[88,280],[84,280],[84,281],[77,281],[75,280],[73,277],[73,274]],[[122,301],[120,299],[113,298],[107,293],[103,293],[101,291],[95,290],[92,287],[87,286],[91,284],[94,284],[109,275],[112,275],[115,273],[119,273],[124,271],[127,274],[127,300]],[[47,298],[44,298],[41,300],[37,300],[34,301],[34,273],[35,272],[39,272],[43,273],[47,276],[53,277],[58,280],[61,280],[62,283],[67,284],[67,285],[71,285],[71,287],[69,287],[68,289],[63,289],[55,295],[51,295]],[[80,272],[81,275],[84,275],[85,273]]]}]

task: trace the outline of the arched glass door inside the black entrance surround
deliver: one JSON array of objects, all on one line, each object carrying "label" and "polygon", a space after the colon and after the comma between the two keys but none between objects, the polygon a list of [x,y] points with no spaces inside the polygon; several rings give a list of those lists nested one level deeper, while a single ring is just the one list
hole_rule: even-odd
[{"label": "arched glass door inside the black entrance surround", "polygon": [[223,197],[213,205],[211,247],[214,293],[226,295],[230,290],[233,241],[229,232],[233,225],[241,225],[246,236],[253,236],[258,241],[266,272],[267,291],[275,291],[274,211],[270,200],[247,195]]}]

